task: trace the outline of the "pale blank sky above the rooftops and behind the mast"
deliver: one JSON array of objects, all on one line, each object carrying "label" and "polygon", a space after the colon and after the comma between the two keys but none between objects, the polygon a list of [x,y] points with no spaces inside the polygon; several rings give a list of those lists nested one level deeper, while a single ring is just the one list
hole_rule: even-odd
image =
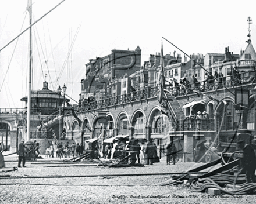
[{"label": "pale blank sky above the rooftops and behind the mast", "polygon": [[[62,0],[33,0],[33,21]],[[29,27],[27,0],[0,0],[0,108],[24,108],[27,96]],[[187,54],[239,54],[247,46],[248,16],[251,41],[256,45],[254,1],[86,1],[66,0],[33,26],[33,90],[67,86],[66,94],[79,100],[81,79],[89,59],[113,49],[141,48],[141,65],[150,54],[177,48]],[[254,21],[255,20],[255,21]],[[254,23],[255,22],[255,23]],[[45,74],[47,77],[45,78]],[[73,104],[76,102],[73,101]]]}]

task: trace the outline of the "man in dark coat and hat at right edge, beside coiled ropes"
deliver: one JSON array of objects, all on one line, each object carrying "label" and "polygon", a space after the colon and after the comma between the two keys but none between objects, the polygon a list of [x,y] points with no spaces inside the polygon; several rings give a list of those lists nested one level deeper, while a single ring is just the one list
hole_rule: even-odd
[{"label": "man in dark coat and hat at right edge, beside coiled ropes", "polygon": [[237,141],[237,148],[243,150],[243,159],[241,160],[241,167],[246,172],[247,183],[256,183],[256,155],[253,147],[246,144],[245,140]]}]

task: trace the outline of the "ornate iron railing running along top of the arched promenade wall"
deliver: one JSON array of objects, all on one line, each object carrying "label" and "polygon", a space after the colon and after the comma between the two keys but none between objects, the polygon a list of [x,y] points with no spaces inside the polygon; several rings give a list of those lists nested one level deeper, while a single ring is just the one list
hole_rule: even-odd
[{"label": "ornate iron railing running along top of the arched promenade wall", "polygon": [[[176,96],[186,96],[189,94],[200,92],[208,92],[212,90],[218,90],[225,87],[227,88],[233,88],[236,86],[241,85],[248,85],[251,83],[256,82],[256,71],[248,71],[248,72],[240,72],[239,78],[234,78],[232,75],[221,77],[221,81],[216,81],[215,79],[212,79],[211,82],[207,81],[200,81],[198,82],[198,86],[195,86],[194,83],[190,83],[189,89],[186,89],[186,86],[180,85],[176,87],[169,86],[167,89],[169,93],[167,93],[167,97],[176,97]],[[195,91],[195,92],[194,92]],[[99,108],[106,108],[111,107],[115,105],[122,105],[126,103],[133,103],[136,101],[141,100],[148,100],[153,97],[157,97],[159,93],[158,87],[147,87],[143,90],[138,90],[135,92],[130,92],[127,94],[122,94],[119,96],[114,97],[106,97],[104,99],[95,100],[86,102],[85,100],[82,102],[82,104],[74,106],[75,111],[91,111],[96,110]],[[31,108],[31,112],[39,110],[41,107],[38,108]],[[60,107],[63,110],[65,108]],[[43,109],[43,108],[41,108]],[[0,114],[26,114],[26,108],[0,108]],[[37,113],[38,114],[38,113]],[[59,114],[59,111],[56,111],[52,113],[51,115],[47,116],[45,121],[49,121],[51,118],[54,118],[56,115]],[[54,116],[55,115],[55,116]]]}]

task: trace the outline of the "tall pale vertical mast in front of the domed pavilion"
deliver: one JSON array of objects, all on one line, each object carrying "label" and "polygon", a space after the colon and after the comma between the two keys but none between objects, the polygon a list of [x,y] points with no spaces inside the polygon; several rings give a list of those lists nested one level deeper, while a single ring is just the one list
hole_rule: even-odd
[{"label": "tall pale vertical mast in front of the domed pavilion", "polygon": [[[29,0],[29,24],[32,24],[32,0]],[[29,67],[27,75],[27,138],[25,141],[29,141],[30,138],[30,114],[31,114],[31,71],[32,71],[32,27],[29,28]]]}]

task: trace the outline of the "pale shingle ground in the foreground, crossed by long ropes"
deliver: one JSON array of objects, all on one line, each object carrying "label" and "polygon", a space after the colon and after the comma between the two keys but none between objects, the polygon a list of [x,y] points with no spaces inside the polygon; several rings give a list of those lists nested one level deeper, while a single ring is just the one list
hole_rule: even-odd
[{"label": "pale shingle ground in the foreground, crossed by long ropes", "polygon": [[[9,158],[8,158],[9,159]],[[16,159],[15,157],[12,159]],[[47,158],[41,159],[45,162]],[[56,159],[56,162],[59,159]],[[69,178],[26,178],[27,176],[73,176],[99,174],[183,172],[202,163],[161,163],[144,167],[45,167],[49,164],[27,162],[26,168],[0,173],[22,179],[0,179],[0,203],[256,203],[255,195],[209,196],[191,192],[185,184],[157,186],[170,180],[170,175],[157,176],[97,176]],[[5,169],[17,166],[6,162]],[[53,165],[51,165],[53,166]],[[1,178],[1,177],[0,177]]]}]

